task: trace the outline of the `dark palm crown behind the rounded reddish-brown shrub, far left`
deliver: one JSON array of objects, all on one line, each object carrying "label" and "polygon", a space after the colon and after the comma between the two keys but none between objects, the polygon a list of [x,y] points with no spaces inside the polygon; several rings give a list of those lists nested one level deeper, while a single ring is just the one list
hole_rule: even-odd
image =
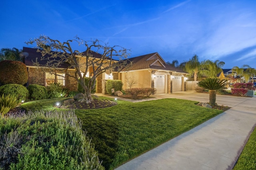
[{"label": "dark palm crown behind the rounded reddish-brown shrub, far left", "polygon": [[0,50],[0,61],[3,60],[13,60],[13,61],[20,61],[20,53],[22,52],[21,49],[17,48],[2,48]]}]

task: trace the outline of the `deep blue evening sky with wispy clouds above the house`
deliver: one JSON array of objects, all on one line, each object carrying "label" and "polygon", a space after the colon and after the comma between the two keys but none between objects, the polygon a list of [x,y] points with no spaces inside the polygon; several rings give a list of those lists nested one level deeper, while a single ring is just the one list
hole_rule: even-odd
[{"label": "deep blue evening sky with wispy clouds above the house", "polygon": [[131,49],[130,57],[158,52],[182,63],[196,54],[256,68],[255,9],[256,0],[3,0],[0,48],[77,35]]}]

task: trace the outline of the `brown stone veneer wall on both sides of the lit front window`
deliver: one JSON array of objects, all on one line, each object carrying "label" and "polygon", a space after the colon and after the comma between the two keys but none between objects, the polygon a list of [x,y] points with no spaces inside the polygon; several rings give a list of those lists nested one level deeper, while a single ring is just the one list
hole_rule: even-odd
[{"label": "brown stone veneer wall on both sides of the lit front window", "polygon": [[[44,71],[50,71],[50,70],[42,70],[40,68],[29,68],[28,70],[28,85],[30,84],[38,84],[41,86],[45,86],[45,76]],[[74,75],[75,72],[73,70],[68,70],[68,74]],[[76,91],[78,88],[78,82],[75,78],[66,75],[65,78],[65,88],[68,88],[69,90]]]}]

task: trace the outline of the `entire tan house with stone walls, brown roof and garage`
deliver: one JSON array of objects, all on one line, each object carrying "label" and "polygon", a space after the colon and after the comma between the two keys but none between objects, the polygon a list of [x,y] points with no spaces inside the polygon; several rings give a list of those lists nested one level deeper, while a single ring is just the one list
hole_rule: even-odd
[{"label": "entire tan house with stone walls, brown roof and garage", "polygon": [[[23,47],[23,52],[27,52],[29,54],[25,59],[25,64],[28,68],[28,85],[39,84],[42,86],[48,86],[53,82],[57,82],[62,84],[65,88],[77,90],[78,82],[73,77],[75,76],[76,69],[70,67],[70,64],[64,63],[58,66],[56,73],[60,76],[54,75],[50,68],[38,67],[33,64],[36,61],[36,58],[40,64],[45,64],[44,60],[40,60],[42,55],[37,52],[37,49]],[[96,58],[100,58],[100,56],[98,56],[100,54],[93,51],[91,52],[91,55]],[[84,61],[81,60],[80,62]],[[122,68],[120,71],[107,70],[98,76],[96,79],[96,92],[105,94],[106,80],[110,79],[122,80],[124,84],[123,88],[129,88],[127,83],[129,78],[138,80],[132,88],[153,87],[157,89],[157,94],[186,91],[186,75],[188,73],[166,64],[164,59],[162,59],[158,53],[133,57],[127,59],[127,63],[128,66]],[[66,70],[66,68],[68,69]],[[91,72],[90,69],[87,73],[82,74],[88,74],[89,76],[89,72]],[[67,72],[72,76],[68,76],[68,74],[66,74]]]}]

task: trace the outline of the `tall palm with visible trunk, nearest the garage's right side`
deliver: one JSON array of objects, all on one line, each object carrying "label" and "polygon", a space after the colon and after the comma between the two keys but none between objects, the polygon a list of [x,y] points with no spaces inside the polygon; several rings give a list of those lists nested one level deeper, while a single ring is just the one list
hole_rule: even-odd
[{"label": "tall palm with visible trunk, nearest the garage's right side", "polygon": [[204,74],[204,63],[198,60],[198,56],[194,55],[188,62],[185,64],[185,71],[194,76],[194,81],[197,80],[197,77]]}]

